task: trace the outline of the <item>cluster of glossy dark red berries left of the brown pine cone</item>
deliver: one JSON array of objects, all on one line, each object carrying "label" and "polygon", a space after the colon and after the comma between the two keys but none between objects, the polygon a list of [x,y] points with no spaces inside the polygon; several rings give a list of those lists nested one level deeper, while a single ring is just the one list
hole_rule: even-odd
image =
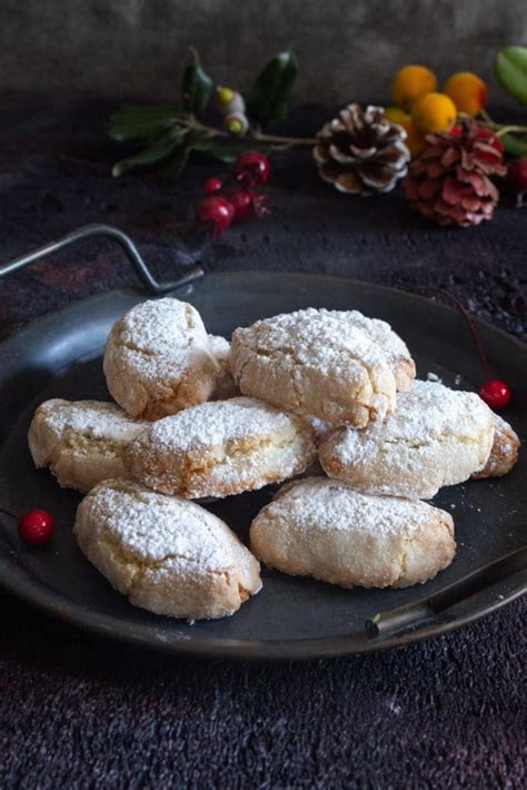
[{"label": "cluster of glossy dark red berries left of the brown pine cone", "polygon": [[[205,197],[196,207],[196,217],[207,226],[212,236],[220,236],[231,223],[239,223],[256,215],[269,214],[266,197],[255,191],[270,176],[269,160],[259,151],[240,154],[233,165],[232,178],[206,178],[202,184]],[[229,186],[229,184],[233,181]],[[227,187],[227,188],[226,188]]]}]

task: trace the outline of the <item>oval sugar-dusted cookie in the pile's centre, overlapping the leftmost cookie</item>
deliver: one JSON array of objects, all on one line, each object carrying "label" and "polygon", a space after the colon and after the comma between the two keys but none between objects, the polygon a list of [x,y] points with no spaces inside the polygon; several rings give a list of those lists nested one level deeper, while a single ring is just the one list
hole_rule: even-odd
[{"label": "oval sugar-dusted cookie in the pile's centre, overlapping the leftmost cookie", "polygon": [[193,406],[153,423],[125,454],[130,474],[167,494],[229,496],[292,477],[316,457],[310,426],[261,401]]}]

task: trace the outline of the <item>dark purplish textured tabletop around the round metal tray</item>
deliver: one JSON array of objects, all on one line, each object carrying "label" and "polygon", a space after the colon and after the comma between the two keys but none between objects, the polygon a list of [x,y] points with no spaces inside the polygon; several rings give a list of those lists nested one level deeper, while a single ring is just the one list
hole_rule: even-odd
[{"label": "dark purplish textured tabletop around the round metal tray", "polygon": [[[177,186],[112,181],[105,106],[40,100],[1,113],[0,260],[72,227],[130,233],[165,276],[173,245],[209,270],[348,275],[410,290],[440,285],[525,336],[523,214],[445,230],[400,194],[348,199],[307,154],[276,157],[275,213],[203,243],[190,221],[205,172]],[[306,110],[310,132],[324,116]],[[181,257],[181,256],[180,256]],[[4,332],[133,276],[90,245],[0,285]],[[58,787],[525,786],[525,602],[458,633],[385,654],[248,665],[142,653],[79,633],[0,594],[0,783]]]}]

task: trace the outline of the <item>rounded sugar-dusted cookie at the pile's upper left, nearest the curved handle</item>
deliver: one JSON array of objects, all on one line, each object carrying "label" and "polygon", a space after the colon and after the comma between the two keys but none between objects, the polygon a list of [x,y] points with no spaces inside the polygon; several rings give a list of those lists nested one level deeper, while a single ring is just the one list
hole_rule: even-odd
[{"label": "rounded sugar-dusted cookie at the pile's upper left, nearest the curved handle", "polygon": [[221,371],[199,313],[172,298],[126,313],[110,332],[103,367],[115,399],[145,419],[208,401]]}]

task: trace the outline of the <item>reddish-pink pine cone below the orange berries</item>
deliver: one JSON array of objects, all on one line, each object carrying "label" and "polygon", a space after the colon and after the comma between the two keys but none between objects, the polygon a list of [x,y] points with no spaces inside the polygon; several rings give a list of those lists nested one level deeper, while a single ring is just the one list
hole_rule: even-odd
[{"label": "reddish-pink pine cone below the orange berries", "polygon": [[491,219],[499,192],[489,176],[504,176],[496,135],[475,124],[426,137],[427,147],[402,181],[410,206],[439,225]]}]

